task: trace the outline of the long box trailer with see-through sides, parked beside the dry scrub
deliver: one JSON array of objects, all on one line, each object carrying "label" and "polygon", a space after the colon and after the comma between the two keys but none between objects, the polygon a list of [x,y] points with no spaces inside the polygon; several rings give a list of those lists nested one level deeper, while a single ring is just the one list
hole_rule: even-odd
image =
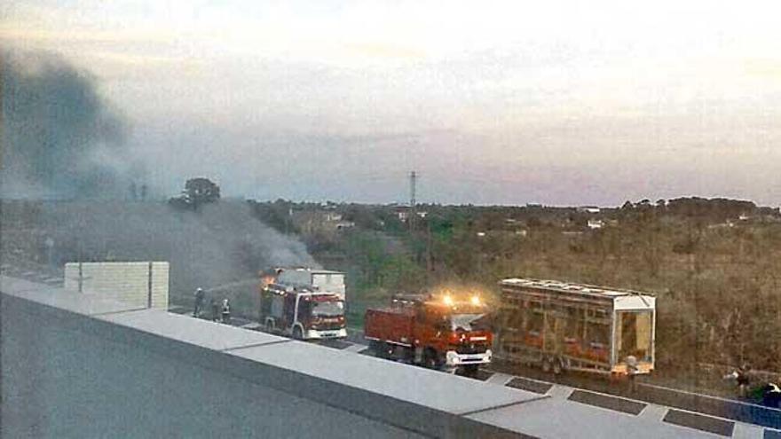
[{"label": "long box trailer with see-through sides, parked beside the dry scrub", "polygon": [[554,373],[653,371],[652,294],[526,278],[500,286],[498,358]]}]

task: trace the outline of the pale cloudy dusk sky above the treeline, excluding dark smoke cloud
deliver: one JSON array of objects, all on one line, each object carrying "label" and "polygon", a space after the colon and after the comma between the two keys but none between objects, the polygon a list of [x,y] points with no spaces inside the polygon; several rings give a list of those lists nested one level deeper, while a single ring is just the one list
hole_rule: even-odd
[{"label": "pale cloudy dusk sky above the treeline, excluding dark smoke cloud", "polygon": [[781,4],[16,1],[0,44],[95,78],[158,192],[781,204]]}]

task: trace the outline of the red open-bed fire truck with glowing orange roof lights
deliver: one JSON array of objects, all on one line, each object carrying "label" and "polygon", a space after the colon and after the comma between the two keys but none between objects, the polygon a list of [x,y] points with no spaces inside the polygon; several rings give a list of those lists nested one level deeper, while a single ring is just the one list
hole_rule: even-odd
[{"label": "red open-bed fire truck with glowing orange roof lights", "polygon": [[364,337],[377,357],[469,374],[491,362],[487,313],[477,296],[397,294],[390,307],[367,310]]}]

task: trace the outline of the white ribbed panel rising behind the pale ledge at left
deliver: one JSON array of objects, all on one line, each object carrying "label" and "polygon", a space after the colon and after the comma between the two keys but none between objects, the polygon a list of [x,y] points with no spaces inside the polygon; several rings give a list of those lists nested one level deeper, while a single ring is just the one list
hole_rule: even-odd
[{"label": "white ribbed panel rising behind the pale ledge at left", "polygon": [[169,263],[66,263],[65,289],[78,292],[80,278],[83,294],[99,294],[134,308],[146,308],[151,294],[152,308],[168,309]]}]

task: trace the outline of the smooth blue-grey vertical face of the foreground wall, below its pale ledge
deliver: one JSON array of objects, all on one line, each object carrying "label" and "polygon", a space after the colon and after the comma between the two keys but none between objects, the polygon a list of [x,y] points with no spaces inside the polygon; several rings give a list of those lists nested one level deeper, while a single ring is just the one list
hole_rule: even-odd
[{"label": "smooth blue-grey vertical face of the foreground wall, below its pale ledge", "polygon": [[422,437],[155,352],[84,317],[8,297],[2,306],[3,437]]}]

